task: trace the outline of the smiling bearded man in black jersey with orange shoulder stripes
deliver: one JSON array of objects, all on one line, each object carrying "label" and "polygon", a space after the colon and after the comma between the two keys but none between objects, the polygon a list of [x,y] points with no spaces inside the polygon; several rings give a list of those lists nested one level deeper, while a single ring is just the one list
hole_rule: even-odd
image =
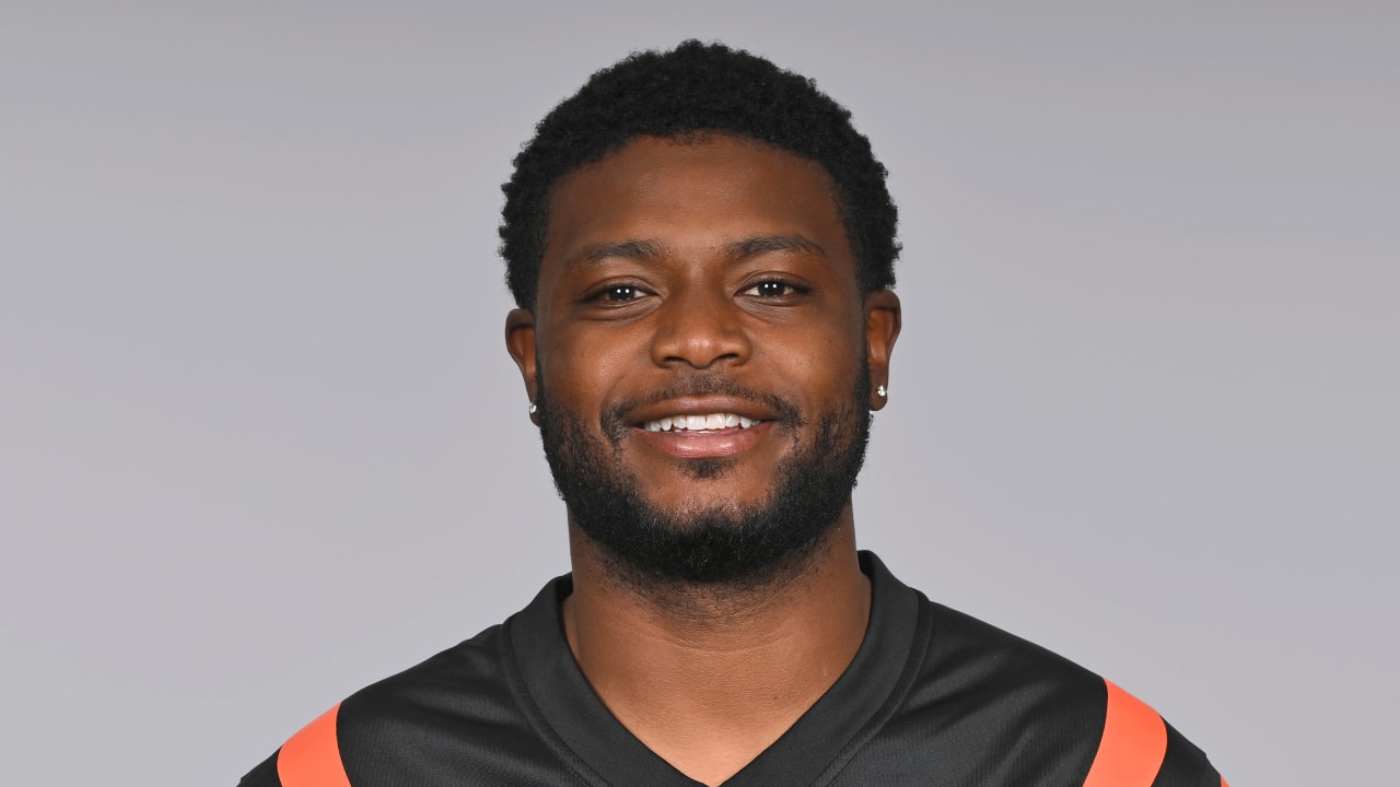
[{"label": "smiling bearded man in black jersey with orange shoulder stripes", "polygon": [[899,246],[841,106],[724,46],[634,55],[504,190],[573,574],[245,786],[1222,784],[1121,689],[857,553]]}]

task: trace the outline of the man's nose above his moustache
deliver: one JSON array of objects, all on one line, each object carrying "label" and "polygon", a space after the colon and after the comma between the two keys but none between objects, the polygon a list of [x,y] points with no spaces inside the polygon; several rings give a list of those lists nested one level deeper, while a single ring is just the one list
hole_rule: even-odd
[{"label": "man's nose above his moustache", "polygon": [[724,291],[692,286],[672,293],[658,311],[651,344],[657,365],[741,364],[753,351],[743,314]]}]

